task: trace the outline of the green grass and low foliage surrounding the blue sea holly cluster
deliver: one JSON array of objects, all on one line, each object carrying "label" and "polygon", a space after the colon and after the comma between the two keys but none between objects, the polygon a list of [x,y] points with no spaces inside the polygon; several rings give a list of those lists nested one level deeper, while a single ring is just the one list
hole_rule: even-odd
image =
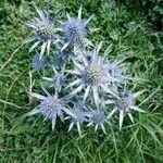
[{"label": "green grass and low foliage surrounding the blue sea holly cluster", "polygon": [[[49,1],[50,2],[50,1]],[[72,15],[77,13],[77,0],[36,0],[41,8]],[[32,53],[22,46],[29,32],[24,22],[35,13],[32,2],[3,0],[0,2],[0,162],[2,163],[161,163],[163,161],[163,34],[153,30],[146,15],[128,11],[113,1],[84,2],[84,17],[95,17],[91,26],[100,27],[90,39],[112,43],[110,59],[127,57],[128,73],[137,76],[137,87],[146,89],[140,106],[147,113],[135,113],[135,124],[125,118],[124,128],[117,122],[102,131],[84,128],[67,133],[67,125],[57,123],[51,130],[50,121],[40,115],[24,117],[35,102],[27,91],[30,79]],[[64,17],[64,16],[63,16]],[[40,89],[40,75],[35,73],[35,90]],[[133,86],[133,83],[130,83]]]}]

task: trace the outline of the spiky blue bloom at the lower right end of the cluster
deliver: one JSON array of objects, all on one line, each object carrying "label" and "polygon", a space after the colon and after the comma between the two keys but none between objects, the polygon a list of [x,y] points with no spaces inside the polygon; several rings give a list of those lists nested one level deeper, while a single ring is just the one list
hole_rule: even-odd
[{"label": "spiky blue bloom at the lower right end of the cluster", "polygon": [[122,91],[118,92],[118,99],[116,97],[113,97],[112,100],[105,101],[105,103],[114,103],[114,109],[111,111],[109,114],[109,118],[116,112],[118,111],[120,117],[118,117],[118,124],[120,124],[120,129],[122,129],[123,126],[123,121],[125,114],[127,114],[130,118],[130,121],[134,123],[134,118],[131,115],[133,111],[139,111],[139,112],[145,112],[140,108],[136,105],[136,98],[140,96],[142,91],[137,91],[135,93],[129,92],[129,91]]}]

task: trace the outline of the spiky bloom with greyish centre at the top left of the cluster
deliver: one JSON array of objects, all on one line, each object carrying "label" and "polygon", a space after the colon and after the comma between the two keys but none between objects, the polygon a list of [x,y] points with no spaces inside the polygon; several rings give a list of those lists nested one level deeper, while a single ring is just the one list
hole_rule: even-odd
[{"label": "spiky bloom with greyish centre at the top left of the cluster", "polygon": [[39,18],[36,17],[33,22],[26,23],[29,27],[33,28],[33,32],[35,34],[34,37],[29,38],[28,42],[36,40],[36,42],[29,49],[29,52],[33,51],[36,47],[38,47],[40,43],[42,43],[40,51],[40,59],[41,59],[46,50],[47,54],[49,54],[51,42],[57,43],[58,41],[60,41],[60,39],[55,34],[53,25],[54,18],[51,20],[48,12],[41,11],[35,4],[34,7],[40,17]]}]

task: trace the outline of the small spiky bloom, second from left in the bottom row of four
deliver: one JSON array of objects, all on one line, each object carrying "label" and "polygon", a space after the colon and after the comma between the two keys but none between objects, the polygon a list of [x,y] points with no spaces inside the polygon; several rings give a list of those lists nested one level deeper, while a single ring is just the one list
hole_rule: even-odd
[{"label": "small spiky bloom, second from left in the bottom row of four", "polygon": [[80,125],[84,122],[88,122],[88,110],[82,103],[75,103],[73,109],[70,109],[72,115],[65,117],[65,120],[70,120],[71,124],[68,127],[68,131],[72,129],[74,125],[77,126],[77,131],[79,136],[82,135]]}]

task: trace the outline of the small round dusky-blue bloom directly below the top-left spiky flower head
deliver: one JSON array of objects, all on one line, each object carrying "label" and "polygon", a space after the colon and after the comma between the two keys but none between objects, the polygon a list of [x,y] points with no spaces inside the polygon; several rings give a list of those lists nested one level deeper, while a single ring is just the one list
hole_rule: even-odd
[{"label": "small round dusky-blue bloom directly below the top-left spiky flower head", "polygon": [[35,54],[32,60],[32,65],[35,71],[40,71],[48,65],[48,61],[45,57],[40,59],[39,54]]}]

